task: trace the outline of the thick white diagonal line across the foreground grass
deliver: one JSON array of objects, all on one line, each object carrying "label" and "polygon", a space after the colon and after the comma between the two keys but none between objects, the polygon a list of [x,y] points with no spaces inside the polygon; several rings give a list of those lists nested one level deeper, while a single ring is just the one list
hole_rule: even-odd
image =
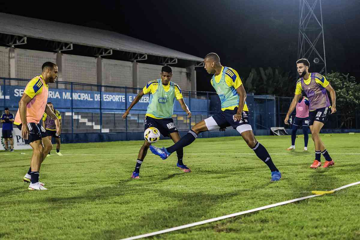
[{"label": "thick white diagonal line across the foreground grass", "polygon": [[[357,184],[360,184],[360,182],[354,182],[352,184],[348,184],[348,185],[339,187],[339,188],[334,189],[332,191],[338,191],[338,190],[344,189],[346,187],[354,186],[354,185],[357,185]],[[235,216],[239,216],[239,215],[243,215],[243,214],[247,214],[247,213],[257,212],[257,211],[264,210],[264,209],[267,209],[267,208],[273,208],[273,207],[276,207],[276,206],[280,206],[280,205],[284,205],[284,204],[288,204],[288,203],[293,203],[293,202],[296,202],[296,201],[301,201],[301,200],[304,200],[304,199],[307,199],[307,198],[314,198],[314,197],[321,196],[321,195],[322,194],[319,194],[319,195],[315,194],[315,195],[310,195],[310,196],[306,196],[306,197],[302,197],[302,198],[296,198],[296,199],[292,199],[292,200],[288,200],[288,201],[282,201],[280,203],[274,203],[274,204],[267,205],[267,206],[260,207],[260,208],[254,208],[254,209],[246,210],[246,211],[243,211],[243,212],[238,212],[238,213],[225,215],[225,216],[222,216],[222,217],[211,218],[211,219],[207,219],[207,220],[204,220],[204,221],[194,222],[194,223],[186,224],[186,225],[179,226],[179,227],[172,227],[172,228],[168,228],[168,229],[157,231],[157,232],[150,232],[148,234],[138,235],[138,236],[134,236],[134,237],[128,237],[128,238],[124,238],[124,239],[121,239],[121,240],[140,239],[140,238],[143,238],[143,237],[149,237],[149,236],[154,236],[154,235],[158,235],[158,234],[163,234],[165,232],[172,232],[172,231],[176,231],[176,230],[180,230],[180,229],[184,229],[184,228],[188,228],[188,227],[194,227],[194,226],[202,225],[202,224],[209,223],[209,222],[219,221],[219,220],[222,220],[222,219],[225,219],[225,218],[235,217]]]}]

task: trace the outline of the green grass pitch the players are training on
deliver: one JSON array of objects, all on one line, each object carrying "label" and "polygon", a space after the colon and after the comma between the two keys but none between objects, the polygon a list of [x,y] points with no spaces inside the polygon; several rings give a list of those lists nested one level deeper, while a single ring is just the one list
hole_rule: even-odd
[{"label": "green grass pitch the players are training on", "polygon": [[[176,154],[161,160],[149,151],[138,180],[130,176],[142,141],[63,144],[64,156],[52,155],[41,166],[48,191],[29,191],[22,182],[30,150],[0,152],[0,239],[116,240],[360,181],[359,134],[322,137],[335,161],[328,169],[309,168],[311,138],[308,152],[302,138],[292,152],[285,150],[290,136],[257,139],[273,153],[281,181],[270,182],[256,155],[240,155],[253,153],[241,137],[197,139],[186,147],[192,173],[176,168]],[[359,196],[356,185],[151,239],[360,239]]]}]

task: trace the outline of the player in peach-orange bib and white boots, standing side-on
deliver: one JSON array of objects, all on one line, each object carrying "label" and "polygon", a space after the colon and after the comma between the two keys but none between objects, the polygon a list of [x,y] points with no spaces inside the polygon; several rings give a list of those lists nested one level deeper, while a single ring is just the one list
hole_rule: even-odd
[{"label": "player in peach-orange bib and white boots, standing side-on", "polygon": [[42,114],[55,119],[57,135],[60,133],[60,122],[46,102],[48,101],[48,83],[55,82],[58,77],[58,66],[55,63],[42,64],[40,76],[34,77],[27,83],[24,94],[19,101],[14,124],[21,130],[25,144],[30,144],[33,149],[29,171],[24,176],[24,182],[31,182],[29,190],[47,190],[39,182],[39,171],[42,161],[53,148],[45,129],[39,124]]}]

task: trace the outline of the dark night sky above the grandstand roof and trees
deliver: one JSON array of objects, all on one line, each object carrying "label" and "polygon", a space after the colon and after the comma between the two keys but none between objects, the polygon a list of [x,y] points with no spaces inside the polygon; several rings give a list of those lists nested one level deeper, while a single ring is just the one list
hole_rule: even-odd
[{"label": "dark night sky above the grandstand roof and trees", "polygon": [[[1,2],[0,11],[116,31],[199,57],[216,52],[222,65],[245,78],[251,68],[258,67],[292,71],[297,77],[298,0],[104,3],[32,1],[14,7]],[[322,7],[328,72],[350,73],[360,82],[360,1],[323,0]],[[197,74],[198,82],[210,78],[201,68]],[[213,91],[211,86],[198,90]]]}]

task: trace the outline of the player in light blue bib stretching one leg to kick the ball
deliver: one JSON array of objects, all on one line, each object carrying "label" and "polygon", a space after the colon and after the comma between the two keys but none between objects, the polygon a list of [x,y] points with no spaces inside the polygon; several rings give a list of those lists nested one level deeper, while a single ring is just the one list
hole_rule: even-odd
[{"label": "player in light blue bib stretching one leg to kick the ball", "polygon": [[[183,148],[195,141],[199,133],[232,126],[241,134],[249,148],[254,150],[257,157],[270,168],[271,181],[280,180],[281,173],[271,160],[265,147],[256,140],[251,125],[249,124],[249,110],[245,101],[246,92],[239,74],[232,68],[223,67],[216,53],[206,55],[204,64],[206,71],[209,74],[213,74],[211,85],[220,97],[221,111],[214,116],[196,123],[180,141],[169,148],[150,146],[150,150],[162,159],[166,159],[177,149]],[[233,144],[232,146],[236,147]]]}]

